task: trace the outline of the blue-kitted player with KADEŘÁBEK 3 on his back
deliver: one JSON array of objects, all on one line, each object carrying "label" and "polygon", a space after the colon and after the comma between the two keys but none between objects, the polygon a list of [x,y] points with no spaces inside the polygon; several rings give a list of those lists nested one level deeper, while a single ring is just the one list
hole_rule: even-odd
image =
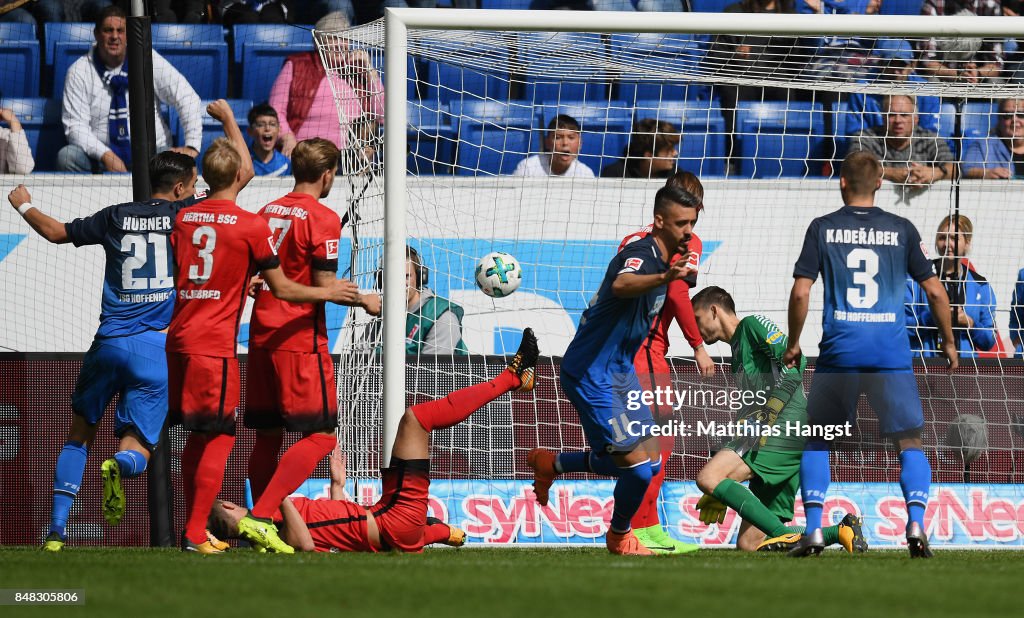
[{"label": "blue-kitted player with KADE\u0158\u00c1BEK 3 on his back", "polygon": [[[811,222],[794,269],[790,296],[790,345],[783,362],[801,360],[800,334],[807,320],[811,285],[821,274],[824,285],[821,343],[807,411],[812,426],[852,420],[857,399],[867,396],[879,429],[899,449],[900,487],[906,499],[906,528],[911,558],[930,558],[925,509],[932,471],[921,450],[925,415],[911,366],[903,318],[906,277],[928,296],[942,336],[941,349],[956,368],[956,344],[950,325],[949,299],[928,260],[913,224],[874,206],[882,186],[882,164],[869,152],[843,161],[840,190],[846,206]],[[824,547],[821,513],[828,491],[829,443],[807,442],[800,465],[800,486],[807,529],[794,556]]]}]

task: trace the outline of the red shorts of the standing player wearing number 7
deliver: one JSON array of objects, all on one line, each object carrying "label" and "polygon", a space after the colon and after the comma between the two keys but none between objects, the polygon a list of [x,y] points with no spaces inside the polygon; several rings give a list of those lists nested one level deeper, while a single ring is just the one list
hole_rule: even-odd
[{"label": "red shorts of the standing player wearing number 7", "polygon": [[246,376],[246,427],[312,433],[338,426],[330,354],[252,349]]}]

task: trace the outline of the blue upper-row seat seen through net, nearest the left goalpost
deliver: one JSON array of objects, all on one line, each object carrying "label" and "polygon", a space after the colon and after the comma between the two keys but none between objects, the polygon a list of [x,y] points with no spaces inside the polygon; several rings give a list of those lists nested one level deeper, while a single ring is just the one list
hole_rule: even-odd
[{"label": "blue upper-row seat seen through net, nearest the left goalpost", "polygon": [[[509,97],[508,72],[489,72],[469,69],[478,63],[480,49],[473,45],[444,45],[437,47],[437,55],[452,58],[453,63],[424,60],[427,67],[427,84],[424,98],[433,103],[447,104],[465,96],[505,101]],[[487,62],[494,67],[508,67],[506,49],[487,52]],[[468,62],[468,63],[467,63]]]}]

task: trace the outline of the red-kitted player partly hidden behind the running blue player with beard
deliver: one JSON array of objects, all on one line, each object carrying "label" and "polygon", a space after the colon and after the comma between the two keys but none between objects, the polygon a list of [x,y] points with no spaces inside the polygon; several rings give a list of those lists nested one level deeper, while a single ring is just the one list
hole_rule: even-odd
[{"label": "red-kitted player partly hidden behind the running blue player with beard", "polygon": [[[700,211],[703,210],[703,186],[700,184],[700,180],[693,174],[689,172],[676,172],[669,177],[666,185],[673,185],[693,193],[700,201],[700,208],[697,209],[697,214],[699,215]],[[626,236],[618,246],[620,251],[630,242],[639,240],[648,234],[650,234],[649,225]],[[692,271],[685,278],[669,283],[669,289],[665,297],[665,306],[662,307],[662,312],[658,316],[654,318],[650,333],[643,344],[641,344],[640,350],[633,361],[637,377],[640,379],[640,384],[648,390],[672,386],[672,370],[669,367],[669,361],[666,359],[666,356],[669,353],[669,326],[672,325],[673,320],[682,328],[687,343],[693,348],[693,357],[696,360],[697,370],[700,372],[700,376],[710,378],[715,374],[715,362],[708,355],[708,351],[705,350],[703,340],[700,339],[696,318],[693,316],[693,305],[690,303],[690,290],[696,286],[697,266],[700,263],[702,250],[700,238],[696,234],[692,234],[687,248],[689,249],[687,255],[676,254],[672,258],[672,261],[686,259],[689,261]],[[659,424],[668,422],[672,417],[673,412],[671,407],[662,409],[656,404],[651,406],[651,411],[654,415],[654,421]],[[636,534],[645,547],[655,554],[686,554],[694,551],[697,549],[697,545],[684,543],[672,538],[665,528],[662,527],[658,518],[657,498],[662,492],[662,484],[665,482],[665,471],[669,464],[669,457],[672,455],[675,439],[672,436],[662,436],[659,441],[662,445],[662,467],[658,473],[651,478],[650,485],[647,486],[647,492],[644,494],[643,502],[640,503],[639,511],[633,516],[633,521],[631,522],[633,533]]]}]

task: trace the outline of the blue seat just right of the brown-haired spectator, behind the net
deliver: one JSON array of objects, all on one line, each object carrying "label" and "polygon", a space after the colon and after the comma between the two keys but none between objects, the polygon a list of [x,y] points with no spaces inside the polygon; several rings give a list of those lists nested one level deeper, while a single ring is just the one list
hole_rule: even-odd
[{"label": "blue seat just right of the brown-haired spectator, behind the net", "polygon": [[725,175],[725,120],[716,101],[637,101],[635,119],[644,118],[681,128],[679,167],[701,178]]}]

